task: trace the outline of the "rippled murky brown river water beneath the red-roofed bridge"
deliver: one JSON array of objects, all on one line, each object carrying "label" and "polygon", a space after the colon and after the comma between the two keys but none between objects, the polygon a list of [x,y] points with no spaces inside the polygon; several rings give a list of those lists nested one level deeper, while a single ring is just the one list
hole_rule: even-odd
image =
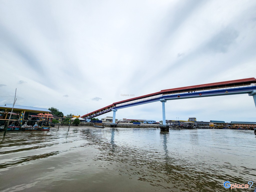
[{"label": "rippled murky brown river water beneath the red-roofed bridge", "polygon": [[253,131],[57,128],[0,133],[0,191],[230,191],[225,181],[256,186]]}]

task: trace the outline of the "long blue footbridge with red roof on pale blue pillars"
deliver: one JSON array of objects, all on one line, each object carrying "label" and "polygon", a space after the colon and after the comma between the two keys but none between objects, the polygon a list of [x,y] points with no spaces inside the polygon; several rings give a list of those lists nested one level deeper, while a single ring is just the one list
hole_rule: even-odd
[{"label": "long blue footbridge with red roof on pale blue pillars", "polygon": [[188,86],[188,87],[180,87],[180,88],[174,88],[174,89],[165,89],[156,93],[151,93],[147,95],[142,95],[140,97],[135,97],[135,98],[115,102],[115,103],[112,103],[111,105],[105,106],[101,109],[98,109],[96,111],[83,115],[81,117],[85,119],[91,119],[96,116],[102,115],[104,113],[113,111],[113,122],[111,123],[111,126],[116,126],[115,113],[118,109],[161,101],[162,111],[163,111],[163,125],[161,125],[161,128],[165,129],[165,128],[168,128],[166,125],[166,119],[165,119],[165,102],[167,100],[212,97],[212,96],[220,96],[220,95],[234,95],[234,94],[245,94],[245,93],[248,93],[249,96],[253,96],[254,104],[256,106],[256,79],[255,78],[222,81],[222,82],[201,84],[201,85]]}]

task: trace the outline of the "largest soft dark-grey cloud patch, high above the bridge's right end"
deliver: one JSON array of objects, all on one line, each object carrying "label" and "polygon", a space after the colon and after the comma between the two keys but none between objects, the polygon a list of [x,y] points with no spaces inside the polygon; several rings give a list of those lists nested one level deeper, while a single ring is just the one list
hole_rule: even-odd
[{"label": "largest soft dark-grey cloud patch, high above the bridge's right end", "polygon": [[214,36],[206,47],[215,52],[226,53],[229,46],[234,43],[238,35],[238,31],[226,28]]}]

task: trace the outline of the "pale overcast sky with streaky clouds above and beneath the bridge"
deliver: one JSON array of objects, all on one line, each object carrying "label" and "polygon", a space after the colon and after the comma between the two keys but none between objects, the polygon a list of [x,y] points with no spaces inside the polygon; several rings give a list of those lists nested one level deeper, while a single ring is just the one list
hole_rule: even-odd
[{"label": "pale overcast sky with streaky clouds above and beneath the bridge", "polygon": [[[0,0],[0,105],[84,115],[184,86],[256,77],[256,1]],[[248,94],[167,101],[167,120],[256,121]],[[99,116],[112,116],[112,112]],[[162,120],[162,103],[116,118]]]}]

